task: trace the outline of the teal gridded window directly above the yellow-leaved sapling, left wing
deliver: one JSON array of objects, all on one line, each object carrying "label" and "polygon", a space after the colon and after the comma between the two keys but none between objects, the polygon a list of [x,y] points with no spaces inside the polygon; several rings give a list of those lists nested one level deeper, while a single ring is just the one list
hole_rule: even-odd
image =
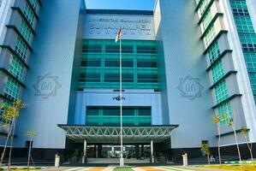
[{"label": "teal gridded window directly above the yellow-leaved sapling, left wing", "polygon": [[4,95],[10,98],[17,99],[20,95],[21,86],[11,78],[8,78],[4,88]]}]

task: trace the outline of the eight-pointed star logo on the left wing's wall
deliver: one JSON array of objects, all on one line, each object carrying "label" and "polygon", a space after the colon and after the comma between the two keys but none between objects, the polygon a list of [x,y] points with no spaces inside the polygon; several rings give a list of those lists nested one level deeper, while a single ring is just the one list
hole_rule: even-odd
[{"label": "eight-pointed star logo on the left wing's wall", "polygon": [[37,81],[33,84],[35,96],[42,98],[56,97],[61,86],[58,76],[51,74],[39,75]]}]

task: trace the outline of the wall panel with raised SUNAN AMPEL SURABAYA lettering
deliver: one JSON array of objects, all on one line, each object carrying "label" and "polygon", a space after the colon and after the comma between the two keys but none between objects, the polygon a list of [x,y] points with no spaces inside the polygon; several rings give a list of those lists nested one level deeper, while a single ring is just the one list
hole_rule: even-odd
[{"label": "wall panel with raised SUNAN AMPEL SURABAYA lettering", "polygon": [[145,15],[86,15],[84,38],[115,39],[122,27],[122,39],[153,40],[152,16]]}]

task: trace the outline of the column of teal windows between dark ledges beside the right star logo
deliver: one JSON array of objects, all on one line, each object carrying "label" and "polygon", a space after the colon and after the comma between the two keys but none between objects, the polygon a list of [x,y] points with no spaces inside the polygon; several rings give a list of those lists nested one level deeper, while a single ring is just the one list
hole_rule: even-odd
[{"label": "column of teal windows between dark ledges beside the right star logo", "polygon": [[[199,13],[200,15],[203,15],[204,18],[202,18],[201,25],[204,28],[209,27],[209,30],[205,32],[205,45],[207,50],[207,56],[209,57],[209,64],[211,66],[211,76],[212,76],[212,82],[213,84],[217,83],[213,86],[213,92],[215,95],[215,103],[217,104],[217,115],[223,115],[224,113],[228,113],[230,116],[232,115],[231,111],[231,105],[229,102],[223,103],[223,100],[227,99],[229,97],[228,94],[228,86],[226,84],[226,80],[223,79],[223,76],[225,74],[224,68],[223,68],[223,62],[222,59],[220,59],[220,50],[218,46],[218,40],[215,40],[215,42],[212,42],[214,38],[217,36],[217,32],[214,27],[214,23],[211,23],[213,20],[211,15],[211,8],[209,8],[211,0],[202,0],[199,1]],[[204,31],[202,31],[204,32]],[[210,45],[210,46],[209,46]]]}]

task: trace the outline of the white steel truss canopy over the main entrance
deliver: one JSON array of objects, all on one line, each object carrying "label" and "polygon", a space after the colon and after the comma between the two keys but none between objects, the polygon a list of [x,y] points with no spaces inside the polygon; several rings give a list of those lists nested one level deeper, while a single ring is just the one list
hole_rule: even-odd
[{"label": "white steel truss canopy over the main entrance", "polygon": [[[120,142],[120,127],[91,127],[61,125],[68,139],[77,143],[108,143],[116,144]],[[146,126],[146,127],[122,127],[122,139],[124,143],[148,143],[151,140],[154,143],[163,142],[170,139],[170,134],[178,125],[169,126]]]}]

